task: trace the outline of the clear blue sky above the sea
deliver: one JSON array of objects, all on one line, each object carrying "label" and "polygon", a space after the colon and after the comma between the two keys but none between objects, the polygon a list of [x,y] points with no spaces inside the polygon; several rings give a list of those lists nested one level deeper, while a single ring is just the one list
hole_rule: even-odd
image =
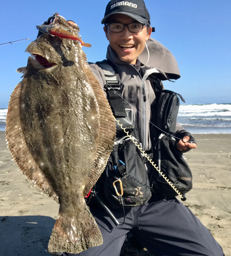
[{"label": "clear blue sky above the sea", "polygon": [[[119,0],[118,0],[119,1]],[[131,0],[132,2],[132,0]],[[1,4],[0,108],[7,108],[10,95],[21,80],[15,70],[27,65],[27,45],[41,25],[58,12],[80,27],[88,60],[105,58],[108,41],[101,19],[106,0],[4,1]],[[165,82],[166,89],[182,94],[187,104],[231,103],[231,1],[230,0],[146,0],[152,37],[176,57],[181,78]]]}]

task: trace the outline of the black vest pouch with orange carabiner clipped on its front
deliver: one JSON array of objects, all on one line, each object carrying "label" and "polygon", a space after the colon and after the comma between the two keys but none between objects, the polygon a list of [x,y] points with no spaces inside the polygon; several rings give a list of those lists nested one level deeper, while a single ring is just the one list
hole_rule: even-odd
[{"label": "black vest pouch with orange carabiner clipped on its front", "polygon": [[[151,197],[148,174],[140,150],[128,137],[114,146],[104,172],[104,194],[112,208],[138,206]],[[123,188],[123,196],[121,186]],[[115,189],[116,187],[116,189]]]}]

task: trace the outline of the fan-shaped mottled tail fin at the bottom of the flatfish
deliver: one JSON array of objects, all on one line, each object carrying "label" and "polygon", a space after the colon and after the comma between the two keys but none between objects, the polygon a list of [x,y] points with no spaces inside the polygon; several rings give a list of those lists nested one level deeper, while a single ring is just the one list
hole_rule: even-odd
[{"label": "fan-shaped mottled tail fin at the bottom of the flatfish", "polygon": [[88,206],[81,216],[60,214],[52,230],[48,250],[51,252],[80,253],[103,243],[101,231]]}]

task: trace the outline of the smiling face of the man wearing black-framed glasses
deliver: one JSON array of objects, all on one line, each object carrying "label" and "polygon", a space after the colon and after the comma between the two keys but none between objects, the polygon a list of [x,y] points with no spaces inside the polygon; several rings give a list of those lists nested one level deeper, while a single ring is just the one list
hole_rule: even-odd
[{"label": "smiling face of the man wearing black-framed glasses", "polygon": [[[137,20],[124,15],[124,14],[114,14],[108,18],[107,23],[137,23]],[[145,42],[149,39],[152,28],[149,28],[147,32],[146,26],[143,30],[138,33],[133,33],[128,30],[125,26],[122,32],[111,32],[109,27],[104,27],[106,37],[109,41],[111,48],[117,53],[118,57],[130,64],[136,63],[136,58],[143,52],[145,47]]]}]

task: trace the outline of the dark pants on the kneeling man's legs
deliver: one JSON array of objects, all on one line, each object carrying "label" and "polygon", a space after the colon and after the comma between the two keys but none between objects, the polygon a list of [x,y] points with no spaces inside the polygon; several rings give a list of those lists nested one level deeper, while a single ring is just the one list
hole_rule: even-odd
[{"label": "dark pants on the kneeling man's legs", "polygon": [[[166,200],[154,195],[144,205],[126,209],[125,223],[120,226],[114,225],[100,207],[91,212],[102,232],[103,244],[79,254],[63,253],[62,256],[119,256],[130,230],[155,256],[224,256],[209,230],[176,198]],[[122,210],[113,214],[123,222]]]}]

